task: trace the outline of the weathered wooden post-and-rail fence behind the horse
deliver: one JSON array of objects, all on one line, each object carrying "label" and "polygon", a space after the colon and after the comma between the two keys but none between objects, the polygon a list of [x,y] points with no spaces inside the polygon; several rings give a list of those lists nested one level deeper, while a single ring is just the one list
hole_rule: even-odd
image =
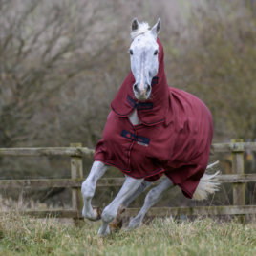
[{"label": "weathered wooden post-and-rail fence behind the horse", "polygon": [[[243,139],[232,139],[231,143],[214,143],[211,151],[232,152],[232,174],[221,175],[222,183],[233,183],[233,205],[202,207],[158,207],[151,208],[147,216],[180,216],[180,215],[247,215],[256,213],[256,205],[245,205],[245,183],[256,182],[256,174],[244,173],[244,151],[256,151],[256,142],[243,142]],[[70,156],[71,179],[40,180],[0,180],[0,188],[42,188],[71,187],[72,210],[27,210],[24,213],[35,217],[56,216],[57,218],[82,218],[82,197],[80,187],[83,178],[82,157],[93,158],[94,150],[82,147],[80,143],[70,147],[57,148],[1,148],[0,157],[36,157],[36,156]],[[103,178],[97,186],[121,186],[124,178]],[[155,181],[159,184],[159,181]],[[132,217],[139,213],[138,208],[127,209],[123,216]]]}]

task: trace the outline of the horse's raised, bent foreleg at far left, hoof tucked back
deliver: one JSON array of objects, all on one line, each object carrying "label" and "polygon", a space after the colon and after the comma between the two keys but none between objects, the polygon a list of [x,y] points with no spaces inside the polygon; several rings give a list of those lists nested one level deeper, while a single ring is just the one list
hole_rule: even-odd
[{"label": "horse's raised, bent foreleg at far left, hoof tucked back", "polygon": [[96,181],[105,173],[109,167],[109,165],[106,165],[100,161],[95,161],[89,176],[82,183],[81,191],[84,202],[82,215],[84,218],[90,221],[97,221],[100,219],[101,213],[98,208],[92,207],[91,201],[95,195]]}]

